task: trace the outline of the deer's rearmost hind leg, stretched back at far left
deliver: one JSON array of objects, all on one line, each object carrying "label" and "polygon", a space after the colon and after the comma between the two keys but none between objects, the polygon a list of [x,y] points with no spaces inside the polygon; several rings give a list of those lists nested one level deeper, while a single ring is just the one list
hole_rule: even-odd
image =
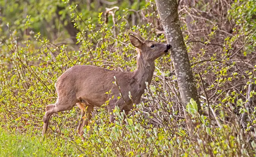
[{"label": "deer's rearmost hind leg, stretched back at far left", "polygon": [[45,133],[48,128],[49,119],[53,113],[58,113],[61,111],[71,110],[76,105],[76,99],[59,99],[55,104],[47,105],[45,108],[45,116],[43,117],[43,140],[45,139]]}]

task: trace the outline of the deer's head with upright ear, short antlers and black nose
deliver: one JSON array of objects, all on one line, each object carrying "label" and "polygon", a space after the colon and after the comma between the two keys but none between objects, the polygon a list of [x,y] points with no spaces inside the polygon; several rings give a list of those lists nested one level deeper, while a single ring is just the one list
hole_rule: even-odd
[{"label": "deer's head with upright ear, short antlers and black nose", "polygon": [[145,40],[139,32],[130,31],[130,42],[137,48],[139,57],[147,61],[154,61],[161,55],[168,53],[171,49],[169,44],[161,44],[150,40]]}]

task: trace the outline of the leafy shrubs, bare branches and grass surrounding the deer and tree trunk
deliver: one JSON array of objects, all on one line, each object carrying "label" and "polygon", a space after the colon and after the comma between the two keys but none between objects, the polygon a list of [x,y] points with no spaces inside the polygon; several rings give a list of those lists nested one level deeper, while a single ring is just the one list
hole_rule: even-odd
[{"label": "leafy shrubs, bare branches and grass surrounding the deer and tree trunk", "polygon": [[205,111],[185,104],[193,135],[168,54],[128,124],[96,108],[82,142],[78,108],[54,114],[41,141],[57,78],[80,64],[134,71],[129,29],[166,43],[155,1],[0,0],[0,156],[255,156],[256,0],[177,3]]}]

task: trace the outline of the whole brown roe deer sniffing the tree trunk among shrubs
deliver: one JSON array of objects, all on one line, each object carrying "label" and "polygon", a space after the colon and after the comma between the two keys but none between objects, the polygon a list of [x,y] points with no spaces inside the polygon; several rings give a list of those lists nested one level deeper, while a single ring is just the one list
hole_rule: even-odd
[{"label": "whole brown roe deer sniffing the tree trunk among shrubs", "polygon": [[[83,127],[87,126],[91,119],[94,106],[102,107],[107,100],[109,121],[114,121],[112,110],[119,106],[121,111],[128,115],[133,109],[133,103],[138,104],[141,95],[146,89],[146,83],[150,84],[155,64],[154,60],[171,49],[169,44],[160,44],[145,40],[139,33],[130,32],[130,42],[137,49],[137,69],[134,72],[111,71],[91,65],[72,66],[67,69],[57,80],[55,87],[58,99],[55,104],[49,104],[43,117],[43,139],[48,128],[50,116],[60,111],[71,110],[76,104],[82,112],[78,126],[78,134],[83,137]],[[113,82],[117,85],[113,84]],[[111,93],[106,94],[106,92]],[[131,99],[129,97],[131,94]],[[122,95],[120,97],[120,93]],[[113,99],[112,96],[114,95]],[[87,119],[84,119],[86,112]]]}]

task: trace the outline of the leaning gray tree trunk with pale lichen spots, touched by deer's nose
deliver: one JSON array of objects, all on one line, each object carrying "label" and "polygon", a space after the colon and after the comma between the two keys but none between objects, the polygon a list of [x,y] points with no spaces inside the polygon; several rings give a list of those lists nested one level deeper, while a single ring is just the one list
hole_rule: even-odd
[{"label": "leaning gray tree trunk with pale lichen spots, touched by deer's nose", "polygon": [[176,0],[156,0],[156,6],[165,31],[168,44],[173,46],[171,57],[176,71],[180,96],[184,104],[193,98],[200,110],[197,88],[187,55],[187,49],[180,29]]}]

